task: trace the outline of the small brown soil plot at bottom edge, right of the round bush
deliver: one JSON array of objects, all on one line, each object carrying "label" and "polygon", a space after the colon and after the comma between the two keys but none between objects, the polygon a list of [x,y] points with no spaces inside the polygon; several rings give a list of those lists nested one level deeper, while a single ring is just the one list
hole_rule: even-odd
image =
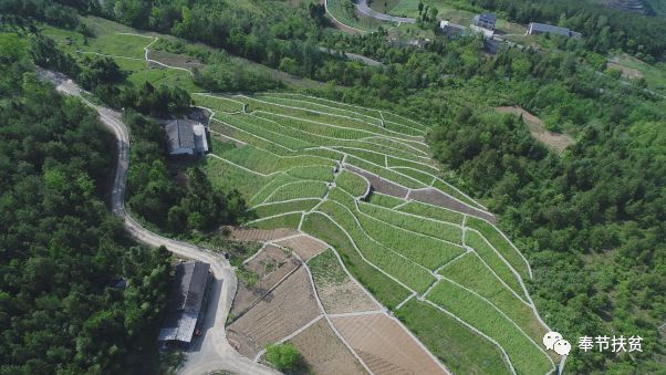
[{"label": "small brown soil plot at bottom edge, right of the round bush", "polygon": [[367,374],[361,363],[335,335],[325,319],[290,340],[318,375]]}]

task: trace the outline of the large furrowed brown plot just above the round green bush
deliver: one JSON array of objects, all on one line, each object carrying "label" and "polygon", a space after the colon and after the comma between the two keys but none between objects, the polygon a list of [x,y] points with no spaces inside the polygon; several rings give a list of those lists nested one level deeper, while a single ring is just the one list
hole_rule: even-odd
[{"label": "large furrowed brown plot just above the round green bush", "polygon": [[231,323],[227,336],[240,354],[254,358],[268,344],[292,334],[320,313],[308,272],[301,267]]}]

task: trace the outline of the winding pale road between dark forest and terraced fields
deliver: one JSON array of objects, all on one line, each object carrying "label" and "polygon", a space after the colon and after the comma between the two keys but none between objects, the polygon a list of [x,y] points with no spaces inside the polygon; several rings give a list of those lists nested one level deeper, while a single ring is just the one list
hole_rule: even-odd
[{"label": "winding pale road between dark forest and terraced fields", "polygon": [[[41,71],[40,73],[51,81],[58,91],[67,95],[81,96],[82,90],[64,75],[49,71]],[[85,98],[82,100],[97,111],[104,125],[116,136],[118,157],[111,202],[113,212],[125,220],[125,229],[134,239],[147,246],[165,246],[170,252],[179,257],[210,263],[214,284],[208,310],[204,317],[204,335],[192,343],[187,362],[180,373],[200,375],[228,369],[240,374],[275,374],[272,369],[240,355],[227,341],[225,323],[237,287],[233,268],[229,262],[223,257],[207,249],[154,233],[127,215],[125,211],[125,181],[129,164],[129,134],[127,127],[121,121],[118,112],[94,105]]]}]

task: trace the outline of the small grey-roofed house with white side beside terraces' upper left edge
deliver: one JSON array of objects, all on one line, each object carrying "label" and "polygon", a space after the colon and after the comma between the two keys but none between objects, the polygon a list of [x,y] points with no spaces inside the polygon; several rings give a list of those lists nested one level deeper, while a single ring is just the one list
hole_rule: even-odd
[{"label": "small grey-roofed house with white side beside terraces' upper left edge", "polygon": [[206,128],[192,119],[173,119],[166,125],[170,155],[204,155],[208,153]]}]

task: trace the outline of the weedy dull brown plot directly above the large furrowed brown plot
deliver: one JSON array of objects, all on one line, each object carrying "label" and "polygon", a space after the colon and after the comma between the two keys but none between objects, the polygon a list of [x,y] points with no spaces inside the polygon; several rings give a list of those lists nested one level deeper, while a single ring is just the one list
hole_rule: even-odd
[{"label": "weedy dull brown plot directly above the large furrowed brown plot", "polygon": [[230,311],[231,316],[239,316],[252,308],[271,288],[275,287],[280,280],[284,279],[299,265],[298,259],[287,256],[282,249],[271,246],[263,249],[244,265],[246,269],[254,272],[259,280],[252,285],[248,285],[239,278]]}]

